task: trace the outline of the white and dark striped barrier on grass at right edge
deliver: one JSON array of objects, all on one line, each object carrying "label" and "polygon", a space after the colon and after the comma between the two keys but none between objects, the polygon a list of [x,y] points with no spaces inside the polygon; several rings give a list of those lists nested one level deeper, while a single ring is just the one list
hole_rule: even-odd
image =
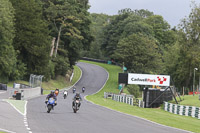
[{"label": "white and dark striped barrier on grass at right edge", "polygon": [[200,119],[200,107],[184,106],[164,102],[164,110],[170,113],[191,116]]}]

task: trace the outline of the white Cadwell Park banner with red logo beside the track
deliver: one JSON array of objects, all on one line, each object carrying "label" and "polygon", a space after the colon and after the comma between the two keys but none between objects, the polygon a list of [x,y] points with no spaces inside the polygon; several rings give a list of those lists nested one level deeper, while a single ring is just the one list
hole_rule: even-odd
[{"label": "white Cadwell Park banner with red logo beside the track", "polygon": [[170,76],[129,73],[128,84],[170,86]]}]

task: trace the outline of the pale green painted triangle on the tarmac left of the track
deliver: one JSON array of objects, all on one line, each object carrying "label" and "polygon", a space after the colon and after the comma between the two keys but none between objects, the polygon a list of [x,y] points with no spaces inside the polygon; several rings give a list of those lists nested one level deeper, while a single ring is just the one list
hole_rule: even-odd
[{"label": "pale green painted triangle on the tarmac left of the track", "polygon": [[11,99],[6,99],[5,101],[7,101],[8,103],[12,104],[13,106],[15,106],[17,108],[18,111],[20,111],[22,114],[24,114],[24,105],[26,101],[23,100],[11,100]]}]

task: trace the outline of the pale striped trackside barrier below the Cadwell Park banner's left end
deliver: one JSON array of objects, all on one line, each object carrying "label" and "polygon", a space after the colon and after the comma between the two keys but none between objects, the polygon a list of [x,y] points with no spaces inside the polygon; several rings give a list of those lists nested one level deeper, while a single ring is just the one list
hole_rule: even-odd
[{"label": "pale striped trackside barrier below the Cadwell Park banner's left end", "polygon": [[110,97],[112,100],[117,102],[126,103],[132,106],[139,106],[144,108],[144,102],[142,100],[138,100],[136,98],[133,98],[132,95],[119,95],[119,94],[113,94],[104,92],[104,98]]}]

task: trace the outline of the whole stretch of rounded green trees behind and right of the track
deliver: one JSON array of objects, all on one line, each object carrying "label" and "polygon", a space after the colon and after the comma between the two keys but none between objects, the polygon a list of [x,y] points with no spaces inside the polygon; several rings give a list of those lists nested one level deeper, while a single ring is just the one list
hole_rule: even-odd
[{"label": "whole stretch of rounded green trees behind and right of the track", "polygon": [[[114,60],[129,72],[166,74],[181,89],[193,85],[200,69],[200,5],[177,27],[148,10],[120,10],[118,15],[91,14],[94,41],[84,56]],[[200,71],[196,71],[196,85]]]}]

